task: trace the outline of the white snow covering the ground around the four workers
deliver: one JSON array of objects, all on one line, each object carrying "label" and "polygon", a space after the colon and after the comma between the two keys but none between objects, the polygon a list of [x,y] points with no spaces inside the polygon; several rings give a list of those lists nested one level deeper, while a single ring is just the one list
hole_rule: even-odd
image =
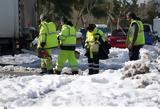
[{"label": "white snow covering the ground around the four workers", "polygon": [[[39,72],[40,60],[34,55],[1,56],[0,107],[23,106],[123,106],[160,105],[160,48],[144,46],[141,59],[128,61],[128,50],[111,48],[109,59],[100,61],[100,73],[87,75],[84,50],[79,59],[84,75],[7,76],[5,72]],[[57,50],[52,55],[57,59]],[[70,70],[65,64],[65,70]]]}]

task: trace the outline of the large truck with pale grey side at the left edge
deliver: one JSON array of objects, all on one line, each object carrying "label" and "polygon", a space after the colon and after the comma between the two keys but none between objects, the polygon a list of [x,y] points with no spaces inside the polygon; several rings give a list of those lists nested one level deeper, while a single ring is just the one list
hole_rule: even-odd
[{"label": "large truck with pale grey side at the left edge", "polygon": [[0,0],[0,55],[29,47],[37,26],[37,0]]}]

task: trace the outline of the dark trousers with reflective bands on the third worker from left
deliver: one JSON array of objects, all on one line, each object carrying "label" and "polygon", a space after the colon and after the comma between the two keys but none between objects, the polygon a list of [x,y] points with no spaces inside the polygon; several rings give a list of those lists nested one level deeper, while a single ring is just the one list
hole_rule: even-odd
[{"label": "dark trousers with reflective bands on the third worker from left", "polygon": [[98,53],[93,53],[93,58],[88,56],[88,64],[89,64],[89,74],[97,74],[99,73],[99,55]]}]

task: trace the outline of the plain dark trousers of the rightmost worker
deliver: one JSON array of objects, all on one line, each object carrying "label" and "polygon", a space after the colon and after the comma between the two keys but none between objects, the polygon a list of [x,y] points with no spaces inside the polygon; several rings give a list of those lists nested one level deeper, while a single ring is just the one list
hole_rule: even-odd
[{"label": "plain dark trousers of the rightmost worker", "polygon": [[138,60],[139,59],[139,50],[142,48],[142,45],[133,46],[131,49],[129,49],[129,60]]}]

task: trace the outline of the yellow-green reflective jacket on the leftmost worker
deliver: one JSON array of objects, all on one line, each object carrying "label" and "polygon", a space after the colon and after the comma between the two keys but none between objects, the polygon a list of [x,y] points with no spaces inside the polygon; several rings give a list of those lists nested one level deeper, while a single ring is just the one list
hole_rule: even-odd
[{"label": "yellow-green reflective jacket on the leftmost worker", "polygon": [[58,46],[56,26],[53,22],[41,22],[37,48],[41,47],[42,42],[45,42],[46,49]]}]

